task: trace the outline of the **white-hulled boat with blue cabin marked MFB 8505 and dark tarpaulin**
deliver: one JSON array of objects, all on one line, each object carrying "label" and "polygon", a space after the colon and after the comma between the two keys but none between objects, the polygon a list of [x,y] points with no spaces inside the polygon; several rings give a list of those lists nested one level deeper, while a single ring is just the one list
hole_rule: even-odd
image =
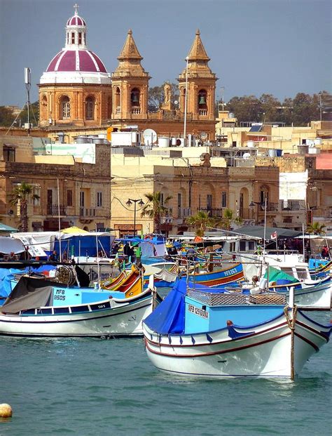
[{"label": "white-hulled boat with blue cabin marked MFB 8505 and dark tarpaulin", "polygon": [[152,312],[157,298],[152,286],[131,296],[21,277],[0,309],[0,335],[141,336],[141,321]]}]

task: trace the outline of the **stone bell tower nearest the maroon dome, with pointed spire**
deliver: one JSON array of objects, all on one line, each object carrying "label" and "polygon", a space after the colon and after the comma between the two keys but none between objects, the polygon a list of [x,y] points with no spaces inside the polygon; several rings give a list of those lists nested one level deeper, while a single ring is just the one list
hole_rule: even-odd
[{"label": "stone bell tower nearest the maroon dome, with pointed spire", "polygon": [[119,65],[112,73],[112,119],[147,119],[150,77],[141,66],[142,59],[129,30]]}]

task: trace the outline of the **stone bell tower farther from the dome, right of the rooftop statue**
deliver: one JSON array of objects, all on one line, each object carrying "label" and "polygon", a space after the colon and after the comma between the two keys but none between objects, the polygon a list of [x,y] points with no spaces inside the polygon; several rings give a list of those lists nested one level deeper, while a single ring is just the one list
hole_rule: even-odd
[{"label": "stone bell tower farther from the dome, right of the rooftop statue", "polygon": [[186,68],[179,75],[180,111],[184,114],[186,102],[186,77],[188,81],[187,116],[193,120],[212,121],[214,116],[214,100],[216,81],[218,80],[208,65],[210,58],[200,39],[200,31],[196,31],[191,50],[186,58]]}]

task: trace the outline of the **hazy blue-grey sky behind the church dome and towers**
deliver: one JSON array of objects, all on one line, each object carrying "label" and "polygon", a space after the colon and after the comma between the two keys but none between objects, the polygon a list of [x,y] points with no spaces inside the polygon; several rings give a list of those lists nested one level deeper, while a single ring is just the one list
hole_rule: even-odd
[{"label": "hazy blue-grey sky behind the church dome and towers", "polygon": [[[196,29],[216,73],[216,98],[270,93],[331,92],[330,0],[77,0],[88,47],[113,72],[132,29],[152,77],[177,83]],[[30,100],[41,74],[64,47],[74,0],[0,0],[0,105],[27,100],[24,68],[32,70]]]}]

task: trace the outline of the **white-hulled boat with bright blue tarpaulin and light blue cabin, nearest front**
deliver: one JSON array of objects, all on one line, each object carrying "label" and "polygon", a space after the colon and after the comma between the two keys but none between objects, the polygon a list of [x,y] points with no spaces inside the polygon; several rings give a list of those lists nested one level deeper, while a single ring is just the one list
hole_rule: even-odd
[{"label": "white-hulled boat with bright blue tarpaulin and light blue cabin, nearest front", "polygon": [[158,369],[205,378],[293,379],[331,328],[282,295],[221,293],[184,280],[143,322],[146,352]]}]

